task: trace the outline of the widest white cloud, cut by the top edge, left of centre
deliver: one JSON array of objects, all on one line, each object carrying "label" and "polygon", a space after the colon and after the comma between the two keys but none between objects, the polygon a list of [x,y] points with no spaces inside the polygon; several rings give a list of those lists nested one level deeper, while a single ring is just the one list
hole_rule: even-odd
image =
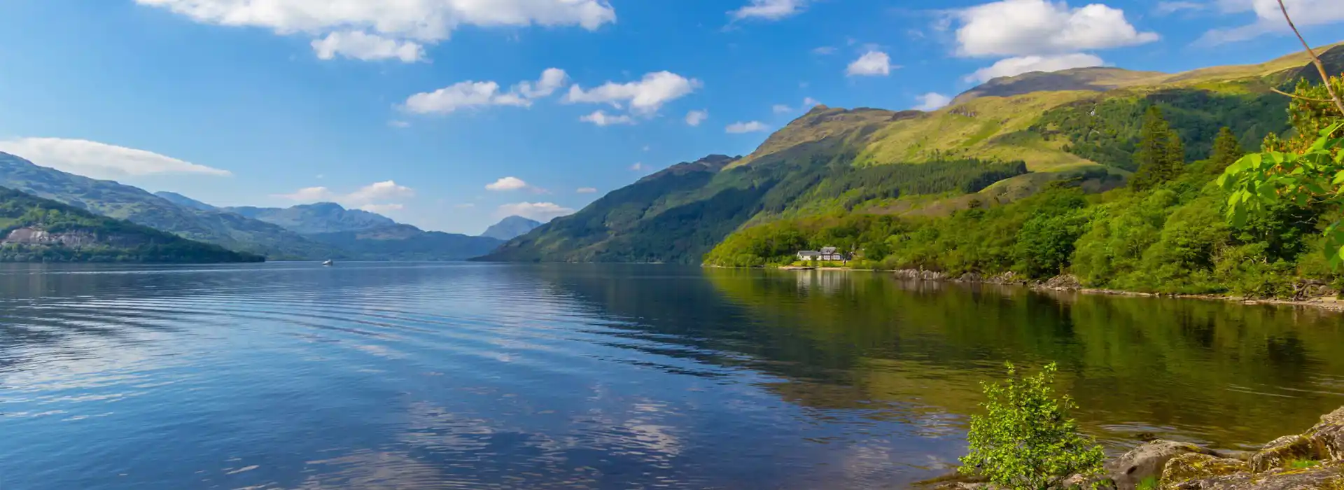
[{"label": "widest white cloud, cut by the top edge, left of centre", "polygon": [[[423,56],[460,26],[581,26],[589,31],[616,21],[606,0],[136,0],[206,24],[261,27],[277,35],[306,34],[319,58],[406,62]],[[332,34],[341,34],[335,40]],[[368,36],[353,40],[355,35]],[[395,44],[386,44],[386,40]],[[321,44],[321,46],[319,46]],[[380,44],[378,48],[370,46]],[[356,47],[358,46],[358,47]],[[348,48],[348,50],[347,50]],[[324,56],[325,54],[325,56]]]}]

